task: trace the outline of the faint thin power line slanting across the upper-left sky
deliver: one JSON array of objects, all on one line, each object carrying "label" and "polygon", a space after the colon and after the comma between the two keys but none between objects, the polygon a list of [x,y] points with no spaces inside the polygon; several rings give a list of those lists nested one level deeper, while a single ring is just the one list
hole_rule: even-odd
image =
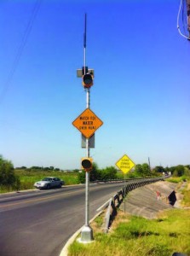
[{"label": "faint thin power line slanting across the upper-left sky", "polygon": [[7,81],[5,82],[3,90],[0,94],[0,103],[2,103],[3,98],[6,96],[8,90],[10,88],[12,79],[14,77],[14,73],[19,65],[20,57],[23,54],[23,50],[25,49],[28,37],[32,31],[32,26],[33,26],[34,20],[37,17],[37,13],[38,13],[41,3],[42,3],[42,0],[37,0],[34,5],[34,8],[32,9],[32,15],[27,23],[26,30],[24,32],[23,38],[21,39],[20,47],[17,51],[17,54],[15,55],[14,62],[13,62],[12,67],[10,68]]}]

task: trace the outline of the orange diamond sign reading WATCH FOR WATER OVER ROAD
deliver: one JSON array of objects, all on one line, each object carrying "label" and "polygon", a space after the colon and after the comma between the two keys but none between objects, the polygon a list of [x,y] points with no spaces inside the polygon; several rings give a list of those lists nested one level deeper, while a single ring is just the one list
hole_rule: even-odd
[{"label": "orange diamond sign reading WATCH FOR WATER OVER ROAD", "polygon": [[83,133],[86,138],[91,137],[95,131],[103,125],[101,119],[99,119],[94,112],[89,108],[86,108],[83,113],[81,113],[77,119],[72,122],[78,131]]}]

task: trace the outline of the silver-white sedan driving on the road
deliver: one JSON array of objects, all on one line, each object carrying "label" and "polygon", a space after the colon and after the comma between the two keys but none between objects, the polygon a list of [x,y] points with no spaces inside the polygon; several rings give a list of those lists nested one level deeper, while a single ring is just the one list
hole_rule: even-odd
[{"label": "silver-white sedan driving on the road", "polygon": [[64,185],[64,181],[59,177],[44,177],[43,180],[34,183],[34,187],[37,189],[51,189],[61,188]]}]

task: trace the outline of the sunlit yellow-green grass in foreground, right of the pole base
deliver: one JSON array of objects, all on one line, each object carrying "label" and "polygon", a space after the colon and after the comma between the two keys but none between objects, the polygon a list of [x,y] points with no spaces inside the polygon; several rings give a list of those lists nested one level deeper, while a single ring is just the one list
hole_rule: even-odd
[{"label": "sunlit yellow-green grass in foreground, right of the pole base", "polygon": [[[190,204],[190,185],[183,190],[184,206]],[[168,256],[175,252],[190,255],[190,209],[172,209],[161,212],[157,219],[125,215],[118,216],[109,234],[103,234],[99,217],[92,225],[95,241],[83,245],[75,241],[69,247],[69,256]]]}]

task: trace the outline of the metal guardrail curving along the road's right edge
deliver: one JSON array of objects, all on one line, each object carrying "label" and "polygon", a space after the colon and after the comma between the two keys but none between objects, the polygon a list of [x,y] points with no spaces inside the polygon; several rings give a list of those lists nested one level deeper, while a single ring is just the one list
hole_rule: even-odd
[{"label": "metal guardrail curving along the road's right edge", "polygon": [[130,179],[130,182],[126,183],[123,189],[120,189],[116,195],[112,196],[112,198],[110,198],[105,204],[103,204],[99,209],[97,209],[97,211],[101,211],[107,208],[105,217],[105,233],[108,233],[112,221],[117,214],[117,208],[124,201],[124,197],[128,194],[128,192],[141,186],[147,185],[149,183],[158,182],[160,180],[164,180],[164,177],[141,178],[138,180]]}]

